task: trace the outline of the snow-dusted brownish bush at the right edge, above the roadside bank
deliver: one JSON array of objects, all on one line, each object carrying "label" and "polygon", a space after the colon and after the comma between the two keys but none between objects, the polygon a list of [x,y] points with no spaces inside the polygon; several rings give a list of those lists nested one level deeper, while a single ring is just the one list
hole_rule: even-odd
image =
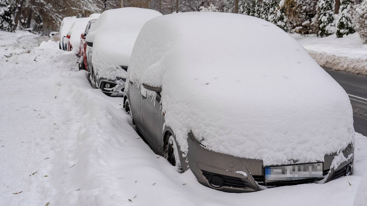
[{"label": "snow-dusted brownish bush at the right edge, above the roadside bank", "polygon": [[367,44],[367,0],[362,1],[357,6],[354,21],[359,36],[363,40],[363,43]]}]

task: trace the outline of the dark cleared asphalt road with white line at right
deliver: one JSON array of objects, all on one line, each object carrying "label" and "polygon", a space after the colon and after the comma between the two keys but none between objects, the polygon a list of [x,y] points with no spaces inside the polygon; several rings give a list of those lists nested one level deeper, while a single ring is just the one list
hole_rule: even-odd
[{"label": "dark cleared asphalt road with white line at right", "polygon": [[348,93],[353,107],[354,129],[367,136],[367,76],[324,69]]}]

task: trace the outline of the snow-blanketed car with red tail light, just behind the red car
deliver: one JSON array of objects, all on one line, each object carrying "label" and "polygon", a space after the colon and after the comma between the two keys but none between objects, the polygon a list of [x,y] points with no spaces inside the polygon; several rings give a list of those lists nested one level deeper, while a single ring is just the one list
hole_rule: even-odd
[{"label": "snow-blanketed car with red tail light, just behind the red car", "polygon": [[87,27],[89,20],[98,19],[101,14],[91,14],[89,17],[78,18],[73,25],[70,27],[68,34],[66,37],[69,38],[67,51],[71,51],[74,47],[76,47],[76,54],[79,54],[79,43],[80,43],[80,35],[83,33]]}]

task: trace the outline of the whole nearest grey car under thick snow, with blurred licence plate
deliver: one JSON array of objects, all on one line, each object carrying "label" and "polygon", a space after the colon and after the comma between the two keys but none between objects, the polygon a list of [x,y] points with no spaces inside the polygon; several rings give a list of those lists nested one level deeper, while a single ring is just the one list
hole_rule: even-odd
[{"label": "whole nearest grey car under thick snow, with blurred licence plate", "polygon": [[352,173],[348,95],[270,22],[220,12],[154,18],[135,41],[127,82],[124,107],[138,132],[207,187],[252,192]]}]

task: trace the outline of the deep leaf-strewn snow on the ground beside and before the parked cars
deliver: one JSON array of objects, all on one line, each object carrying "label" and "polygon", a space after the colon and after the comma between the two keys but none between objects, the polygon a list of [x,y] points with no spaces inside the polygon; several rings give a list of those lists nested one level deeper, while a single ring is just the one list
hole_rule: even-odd
[{"label": "deep leaf-strewn snow on the ground beside and before the parked cars", "polygon": [[248,194],[212,190],[154,154],[122,99],[92,89],[57,43],[37,47],[44,38],[0,32],[0,205],[353,204],[367,137],[356,134],[352,176]]}]

